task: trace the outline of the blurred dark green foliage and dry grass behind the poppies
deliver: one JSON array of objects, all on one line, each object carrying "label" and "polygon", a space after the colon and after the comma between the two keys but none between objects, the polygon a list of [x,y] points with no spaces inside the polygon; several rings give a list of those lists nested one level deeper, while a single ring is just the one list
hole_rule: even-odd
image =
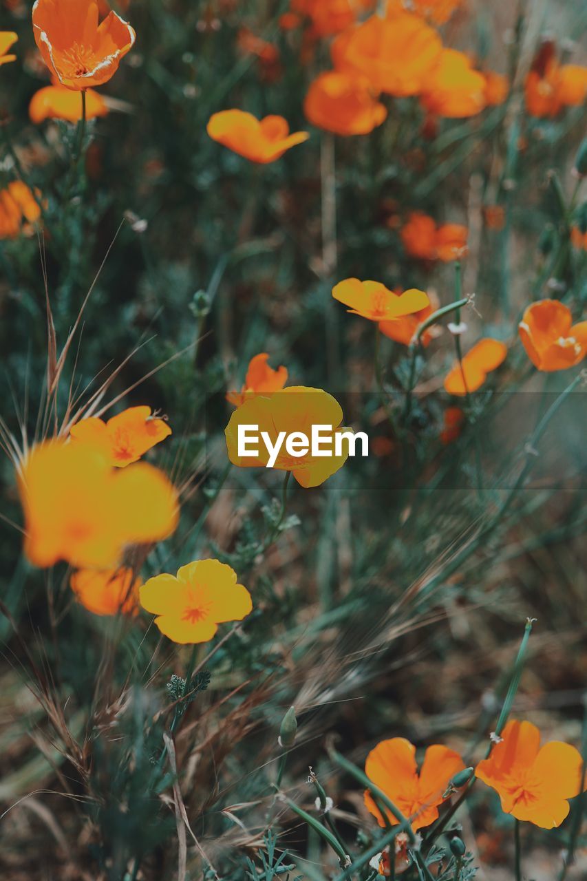
[{"label": "blurred dark green foliage and dry grass behind the poppies", "polygon": [[[470,120],[441,121],[430,138],[416,100],[387,97],[388,120],[370,136],[333,141],[309,127],[308,144],[254,167],[207,137],[210,115],[240,107],[307,129],[303,97],[330,66],[327,43],[301,54],[301,31],[279,29],[287,4],[273,0],[132,0],[120,11],[137,45],[100,90],[113,107],[90,123],[85,171],[70,193],[74,127],[33,126],[27,115],[47,83],[30,5],[0,8],[0,27],[19,33],[18,62],[1,76],[0,180],[14,177],[16,156],[46,200],[42,239],[0,241],[3,418],[35,436],[47,363],[44,272],[58,347],[93,285],[62,405],[70,381],[95,389],[132,352],[108,400],[130,389],[125,405],[159,408],[174,431],[151,457],[183,488],[182,523],[145,560],[145,577],[219,556],[254,598],[239,633],[206,661],[211,683],[176,737],[197,839],[188,835],[189,877],[208,877],[206,862],[230,881],[248,877],[245,856],[266,848],[268,817],[286,833],[279,848],[304,857],[292,878],[331,877],[336,862],[311,830],[271,805],[279,722],[291,704],[300,728],[284,786],[308,806],[308,766],[319,769],[351,837],[353,824],[375,831],[356,785],[332,773],[324,737],[338,734],[359,765],[381,737],[463,750],[479,725],[487,737],[527,615],[539,625],[516,713],[531,714],[546,736],[581,736],[585,426],[576,396],[549,426],[531,485],[499,522],[494,514],[527,460],[539,414],[574,375],[536,374],[516,324],[532,299],[554,292],[578,308],[587,293],[584,252],[570,248],[566,216],[583,108],[531,119],[518,89]],[[542,33],[580,57],[565,41],[584,33],[586,19],[584,4],[470,0],[442,33],[511,78]],[[244,51],[243,28],[271,41],[279,61],[267,67]],[[332,181],[336,263],[322,235]],[[503,210],[501,229],[487,224],[488,206]],[[442,305],[454,298],[452,264],[405,255],[398,227],[413,210],[468,226],[464,292],[475,292],[476,312],[465,312],[465,344],[482,334],[510,347],[448,446],[439,435],[451,403],[442,391],[450,334],[419,359],[419,395],[398,438],[374,380],[373,325],[331,299],[332,285],[349,276],[434,289]],[[279,538],[261,559],[279,477],[227,473],[223,435],[224,392],[240,388],[257,352],[286,365],[289,384],[331,392],[346,424],[372,439],[368,460],[347,463],[316,490],[291,490]],[[382,359],[401,410],[407,350],[383,339]],[[138,877],[174,877],[173,774],[156,791],[150,781],[168,722],[166,682],[186,657],[137,621],[90,616],[72,601],[64,567],[33,571],[13,525],[20,514],[7,457],[0,479],[2,597],[12,616],[0,618],[0,796],[10,808],[3,877],[130,878],[137,855]],[[485,877],[511,877],[509,818],[487,790],[461,822]],[[472,822],[484,830],[476,838]],[[564,834],[529,833],[532,877],[554,877]]]}]

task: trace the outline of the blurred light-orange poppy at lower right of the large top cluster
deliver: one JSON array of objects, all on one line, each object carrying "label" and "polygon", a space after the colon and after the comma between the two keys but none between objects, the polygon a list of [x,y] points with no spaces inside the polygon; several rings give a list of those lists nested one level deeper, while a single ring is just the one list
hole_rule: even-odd
[{"label": "blurred light-orange poppy at lower right of the large top cluster", "polygon": [[459,119],[483,110],[486,87],[486,78],[463,52],[442,49],[420,100],[428,113]]}]

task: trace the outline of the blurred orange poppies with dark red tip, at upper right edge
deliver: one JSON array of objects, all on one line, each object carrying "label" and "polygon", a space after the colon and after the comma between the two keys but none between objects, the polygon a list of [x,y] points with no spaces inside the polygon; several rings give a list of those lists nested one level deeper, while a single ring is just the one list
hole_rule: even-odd
[{"label": "blurred orange poppies with dark red tip, at upper right edge", "polygon": [[531,116],[554,117],[563,107],[579,107],[587,96],[587,67],[560,64],[552,41],[545,41],[524,84]]}]

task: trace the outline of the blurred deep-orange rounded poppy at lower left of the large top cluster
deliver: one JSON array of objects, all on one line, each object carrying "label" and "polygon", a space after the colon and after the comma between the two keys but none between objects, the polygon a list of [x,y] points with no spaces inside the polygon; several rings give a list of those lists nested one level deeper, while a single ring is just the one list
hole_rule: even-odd
[{"label": "blurred deep-orange rounded poppy at lower left of the large top cluster", "polygon": [[381,125],[387,109],[367,78],[328,70],[310,85],[304,113],[312,125],[335,135],[368,135]]}]

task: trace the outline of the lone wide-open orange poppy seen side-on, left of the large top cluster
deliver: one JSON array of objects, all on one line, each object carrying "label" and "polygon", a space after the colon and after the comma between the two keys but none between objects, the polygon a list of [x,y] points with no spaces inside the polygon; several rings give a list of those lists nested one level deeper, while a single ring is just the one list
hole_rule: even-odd
[{"label": "lone wide-open orange poppy seen side-on, left of the large top cluster", "polygon": [[243,110],[222,110],[210,117],[206,131],[213,141],[229,150],[265,165],[308,140],[307,131],[289,134],[289,126],[283,116],[265,116],[259,121]]}]

